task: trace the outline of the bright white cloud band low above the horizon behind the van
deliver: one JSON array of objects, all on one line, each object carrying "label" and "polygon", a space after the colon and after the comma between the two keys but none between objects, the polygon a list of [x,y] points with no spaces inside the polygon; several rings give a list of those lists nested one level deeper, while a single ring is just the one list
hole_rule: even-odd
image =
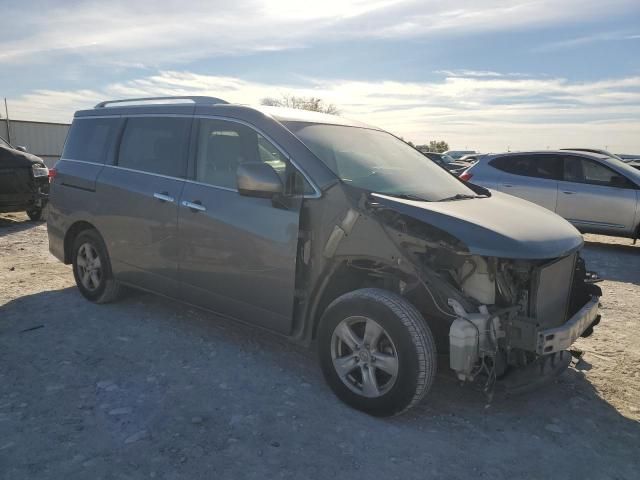
[{"label": "bright white cloud band low above the horizon behind the van", "polygon": [[[497,73],[497,72],[496,72]],[[38,90],[10,100],[14,118],[70,120],[72,112],[110,98],[212,95],[257,104],[282,93],[313,95],[346,117],[415,142],[445,139],[484,151],[571,143],[640,151],[640,77],[595,82],[461,73],[432,82],[307,79],[268,85],[235,77],[161,71],[81,91]]]}]

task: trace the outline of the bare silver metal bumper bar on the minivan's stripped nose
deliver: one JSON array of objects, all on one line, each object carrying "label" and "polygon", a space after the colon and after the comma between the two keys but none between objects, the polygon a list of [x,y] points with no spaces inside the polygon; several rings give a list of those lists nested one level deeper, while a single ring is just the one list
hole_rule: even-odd
[{"label": "bare silver metal bumper bar on the minivan's stripped nose", "polygon": [[564,325],[538,331],[536,353],[548,355],[569,348],[585,330],[599,320],[600,297],[593,296]]}]

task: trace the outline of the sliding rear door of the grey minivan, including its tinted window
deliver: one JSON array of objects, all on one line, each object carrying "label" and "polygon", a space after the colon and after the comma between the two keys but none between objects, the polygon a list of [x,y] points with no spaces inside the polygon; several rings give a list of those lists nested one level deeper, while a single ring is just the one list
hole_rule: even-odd
[{"label": "sliding rear door of the grey minivan, including its tinted window", "polygon": [[101,232],[116,276],[177,296],[178,200],[187,173],[191,118],[130,117],[115,165],[101,172]]}]

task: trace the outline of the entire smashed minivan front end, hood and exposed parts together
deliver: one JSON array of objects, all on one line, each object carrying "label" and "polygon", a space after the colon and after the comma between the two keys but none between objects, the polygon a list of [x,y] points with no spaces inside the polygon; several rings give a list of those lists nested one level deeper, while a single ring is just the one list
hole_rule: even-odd
[{"label": "entire smashed minivan front end, hood and exposed parts together", "polygon": [[[512,198],[476,203],[495,207],[497,218],[509,217],[512,207],[504,202]],[[545,251],[539,233],[518,231],[524,226],[517,224],[481,227],[461,213],[466,202],[455,203],[433,208],[388,197],[372,202],[375,216],[416,269],[419,285],[408,285],[404,294],[430,326],[440,325],[434,329],[439,350],[448,350],[449,365],[461,381],[482,382],[489,393],[499,378],[510,391],[552,378],[568,366],[570,345],[600,321],[601,290],[578,253],[581,238],[560,219],[565,235],[551,230]],[[460,222],[451,223],[452,217]],[[478,243],[474,230],[482,237]],[[496,232],[493,246],[489,231]],[[535,248],[527,249],[528,242]]]}]

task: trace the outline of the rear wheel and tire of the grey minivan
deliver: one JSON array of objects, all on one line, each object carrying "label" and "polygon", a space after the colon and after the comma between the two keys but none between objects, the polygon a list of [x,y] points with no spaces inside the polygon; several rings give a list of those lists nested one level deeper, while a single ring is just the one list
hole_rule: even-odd
[{"label": "rear wheel and tire of the grey minivan", "polygon": [[121,285],[113,278],[111,261],[102,237],[96,230],[84,230],[73,242],[73,276],[80,293],[92,302],[113,302]]}]

